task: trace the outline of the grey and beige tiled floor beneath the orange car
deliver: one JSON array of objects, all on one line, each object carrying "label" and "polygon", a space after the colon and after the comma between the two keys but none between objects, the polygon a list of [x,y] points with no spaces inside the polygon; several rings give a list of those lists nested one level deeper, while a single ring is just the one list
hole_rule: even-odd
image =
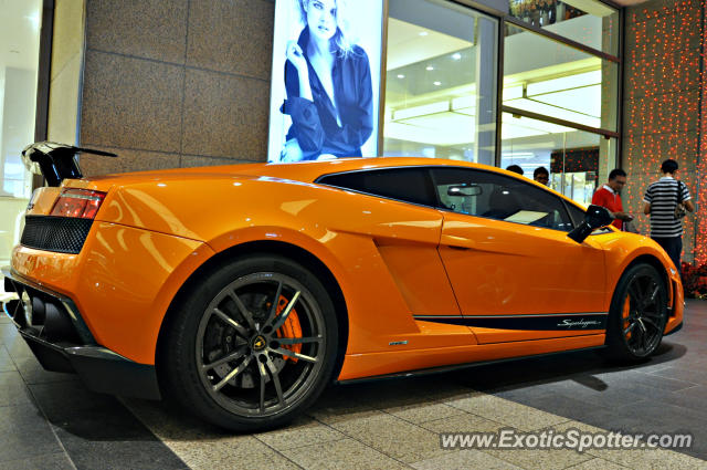
[{"label": "grey and beige tiled floor beneath the orange car", "polygon": [[[336,386],[293,426],[229,435],[160,403],[87,391],[41,369],[0,320],[1,469],[707,469],[707,302],[632,367],[570,353]],[[667,450],[442,450],[440,432],[688,431]]]}]

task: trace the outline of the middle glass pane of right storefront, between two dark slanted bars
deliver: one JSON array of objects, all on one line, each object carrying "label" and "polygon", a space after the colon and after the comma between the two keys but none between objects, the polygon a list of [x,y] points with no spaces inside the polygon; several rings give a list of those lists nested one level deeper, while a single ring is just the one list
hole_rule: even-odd
[{"label": "middle glass pane of right storefront, between two dark slanted bars", "polygon": [[619,64],[507,24],[503,104],[616,130]]}]

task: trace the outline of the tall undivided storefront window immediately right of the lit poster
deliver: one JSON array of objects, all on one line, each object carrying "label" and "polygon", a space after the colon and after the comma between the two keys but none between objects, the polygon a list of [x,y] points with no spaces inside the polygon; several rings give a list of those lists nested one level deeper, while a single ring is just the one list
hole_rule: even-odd
[{"label": "tall undivided storefront window immediately right of the lit poster", "polygon": [[493,165],[498,21],[428,0],[389,14],[383,155]]}]

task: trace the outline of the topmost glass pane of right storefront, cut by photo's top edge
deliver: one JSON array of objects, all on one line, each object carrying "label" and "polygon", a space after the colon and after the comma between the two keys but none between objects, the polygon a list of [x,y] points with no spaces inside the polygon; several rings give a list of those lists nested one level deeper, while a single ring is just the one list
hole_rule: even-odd
[{"label": "topmost glass pane of right storefront, cut by photo's top edge", "polygon": [[510,15],[525,23],[619,55],[619,11],[600,1],[509,0],[509,7]]}]

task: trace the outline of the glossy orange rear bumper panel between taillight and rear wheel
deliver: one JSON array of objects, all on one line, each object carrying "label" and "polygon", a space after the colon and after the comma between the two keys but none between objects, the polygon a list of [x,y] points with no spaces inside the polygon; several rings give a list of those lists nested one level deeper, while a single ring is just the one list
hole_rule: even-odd
[{"label": "glossy orange rear bumper panel between taillight and rear wheel", "polygon": [[71,297],[93,343],[154,365],[170,303],[212,255],[200,241],[96,220],[78,254],[18,244],[12,273]]}]

